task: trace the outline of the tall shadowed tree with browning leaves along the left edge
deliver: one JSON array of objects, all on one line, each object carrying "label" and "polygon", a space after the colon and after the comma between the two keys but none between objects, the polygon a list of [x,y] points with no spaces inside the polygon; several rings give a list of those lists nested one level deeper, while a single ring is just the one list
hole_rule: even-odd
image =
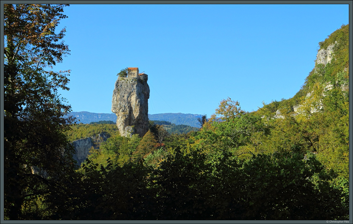
[{"label": "tall shadowed tree with browning leaves along the left edge", "polygon": [[[24,202],[54,195],[72,170],[72,147],[63,133],[71,111],[60,98],[70,70],[46,68],[69,54],[65,28],[55,34],[68,5],[4,5],[4,208],[5,218],[24,219]],[[39,170],[40,172],[35,172]],[[43,175],[45,173],[46,175]],[[42,175],[41,175],[42,174]],[[61,187],[62,188],[62,187]]]}]

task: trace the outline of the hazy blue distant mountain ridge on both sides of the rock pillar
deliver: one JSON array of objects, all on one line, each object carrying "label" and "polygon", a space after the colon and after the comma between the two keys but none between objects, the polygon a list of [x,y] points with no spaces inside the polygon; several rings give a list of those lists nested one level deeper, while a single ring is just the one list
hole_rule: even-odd
[{"label": "hazy blue distant mountain ridge on both sides of the rock pillar", "polygon": [[[100,120],[111,120],[116,122],[115,113],[91,113],[87,111],[71,112],[68,114],[76,117],[77,123],[89,124],[91,122],[98,122]],[[185,124],[192,127],[199,128],[197,118],[201,118],[201,114],[191,113],[158,113],[148,114],[149,120],[165,120],[173,124]],[[67,116],[66,116],[67,117]]]}]

